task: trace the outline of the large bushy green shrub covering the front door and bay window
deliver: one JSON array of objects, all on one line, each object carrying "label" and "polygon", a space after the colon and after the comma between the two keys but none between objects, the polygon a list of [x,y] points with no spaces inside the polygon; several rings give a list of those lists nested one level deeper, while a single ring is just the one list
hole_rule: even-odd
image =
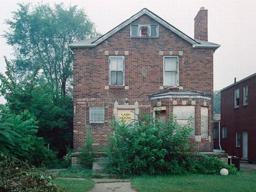
[{"label": "large bushy green shrub covering the front door and bay window", "polygon": [[134,123],[113,121],[107,157],[107,172],[117,174],[181,174],[187,170],[188,136],[192,129],[180,126],[173,116],[167,123],[150,115]]}]

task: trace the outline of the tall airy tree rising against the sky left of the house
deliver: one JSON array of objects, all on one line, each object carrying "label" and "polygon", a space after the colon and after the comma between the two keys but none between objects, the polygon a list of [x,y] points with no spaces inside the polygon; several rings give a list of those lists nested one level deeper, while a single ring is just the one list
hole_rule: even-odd
[{"label": "tall airy tree rising against the sky left of the house", "polygon": [[94,23],[76,6],[18,5],[12,20],[6,20],[9,31],[3,35],[14,48],[16,74],[22,79],[39,68],[39,74],[53,83],[56,93],[66,95],[72,84],[68,44],[99,35]]}]

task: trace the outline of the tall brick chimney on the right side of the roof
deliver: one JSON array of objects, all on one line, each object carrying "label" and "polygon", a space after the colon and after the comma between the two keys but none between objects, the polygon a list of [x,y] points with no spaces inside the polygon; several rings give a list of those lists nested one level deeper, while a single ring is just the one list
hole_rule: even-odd
[{"label": "tall brick chimney on the right side of the roof", "polygon": [[208,41],[207,10],[201,7],[194,20],[194,39]]}]

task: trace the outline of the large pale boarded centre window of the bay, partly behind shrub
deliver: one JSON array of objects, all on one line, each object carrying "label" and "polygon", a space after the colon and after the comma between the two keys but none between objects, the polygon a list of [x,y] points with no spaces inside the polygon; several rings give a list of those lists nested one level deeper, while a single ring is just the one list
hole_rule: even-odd
[{"label": "large pale boarded centre window of the bay, partly behind shrub", "polygon": [[173,106],[173,114],[177,117],[178,124],[185,125],[188,123],[190,117],[193,118],[192,124],[190,127],[193,128],[193,131],[189,135],[189,139],[195,138],[195,106]]}]

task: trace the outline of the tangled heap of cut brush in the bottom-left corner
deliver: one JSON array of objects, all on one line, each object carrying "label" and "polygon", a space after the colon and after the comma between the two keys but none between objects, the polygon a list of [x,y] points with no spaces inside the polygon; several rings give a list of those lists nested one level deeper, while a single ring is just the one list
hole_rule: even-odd
[{"label": "tangled heap of cut brush in the bottom-left corner", "polygon": [[0,153],[0,191],[64,192],[54,184],[51,174],[3,153]]}]

